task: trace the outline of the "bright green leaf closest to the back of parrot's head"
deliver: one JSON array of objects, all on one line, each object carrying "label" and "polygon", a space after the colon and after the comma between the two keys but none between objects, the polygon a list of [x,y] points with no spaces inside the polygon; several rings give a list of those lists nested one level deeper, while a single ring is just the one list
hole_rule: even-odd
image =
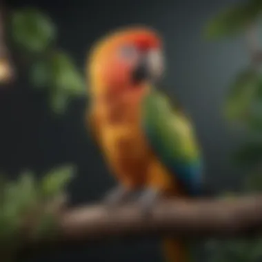
[{"label": "bright green leaf closest to the back of parrot's head", "polygon": [[83,76],[77,70],[68,54],[57,51],[52,56],[52,85],[57,90],[63,90],[68,94],[85,94]]}]

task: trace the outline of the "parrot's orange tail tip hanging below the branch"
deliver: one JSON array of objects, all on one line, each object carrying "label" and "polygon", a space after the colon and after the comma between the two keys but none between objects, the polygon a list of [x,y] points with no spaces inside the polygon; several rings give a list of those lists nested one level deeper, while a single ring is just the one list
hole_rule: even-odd
[{"label": "parrot's orange tail tip hanging below the branch", "polygon": [[181,240],[164,239],[163,255],[165,262],[189,262],[190,254],[188,248]]}]

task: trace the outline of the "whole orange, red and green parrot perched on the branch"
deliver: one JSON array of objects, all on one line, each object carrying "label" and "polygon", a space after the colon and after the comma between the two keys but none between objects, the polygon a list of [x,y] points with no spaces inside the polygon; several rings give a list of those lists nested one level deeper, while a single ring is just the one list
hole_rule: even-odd
[{"label": "whole orange, red and green parrot perched on the branch", "polygon": [[[158,88],[165,73],[159,32],[129,26],[106,34],[92,46],[85,72],[85,120],[117,181],[105,202],[117,206],[139,191],[148,214],[160,197],[199,196],[203,157],[194,126]],[[189,261],[188,253],[182,239],[163,239],[166,261]]]}]

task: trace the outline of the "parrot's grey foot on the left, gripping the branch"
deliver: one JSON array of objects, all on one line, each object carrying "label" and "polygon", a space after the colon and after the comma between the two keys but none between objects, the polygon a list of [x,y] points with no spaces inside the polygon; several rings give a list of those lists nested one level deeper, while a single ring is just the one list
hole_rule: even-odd
[{"label": "parrot's grey foot on the left, gripping the branch", "polygon": [[130,190],[119,185],[117,188],[113,188],[110,192],[108,192],[108,194],[106,194],[104,203],[110,208],[117,207],[121,205],[121,203],[128,201],[130,194]]}]

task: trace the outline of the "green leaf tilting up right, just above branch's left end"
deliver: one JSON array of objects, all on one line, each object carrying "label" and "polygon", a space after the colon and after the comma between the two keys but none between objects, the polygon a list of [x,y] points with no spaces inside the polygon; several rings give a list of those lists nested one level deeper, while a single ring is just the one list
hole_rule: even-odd
[{"label": "green leaf tilting up right, just above branch's left end", "polygon": [[41,181],[41,191],[43,196],[53,197],[60,194],[72,179],[74,168],[66,165],[55,168],[46,174]]}]

